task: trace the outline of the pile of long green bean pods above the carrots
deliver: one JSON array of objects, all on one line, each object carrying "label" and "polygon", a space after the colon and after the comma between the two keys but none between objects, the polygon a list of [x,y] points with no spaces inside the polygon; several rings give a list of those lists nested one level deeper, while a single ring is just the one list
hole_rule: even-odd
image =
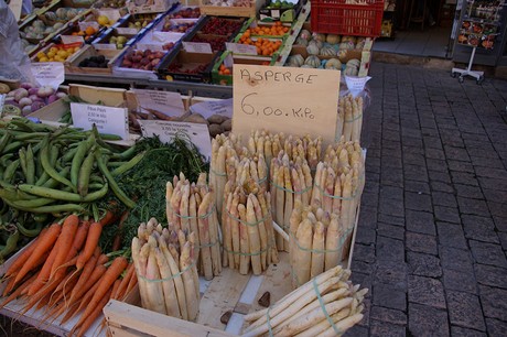
[{"label": "pile of long green bean pods above the carrots", "polygon": [[98,202],[109,193],[136,206],[115,178],[144,152],[106,142],[117,139],[24,118],[0,122],[0,259],[55,218],[78,213],[98,220]]}]

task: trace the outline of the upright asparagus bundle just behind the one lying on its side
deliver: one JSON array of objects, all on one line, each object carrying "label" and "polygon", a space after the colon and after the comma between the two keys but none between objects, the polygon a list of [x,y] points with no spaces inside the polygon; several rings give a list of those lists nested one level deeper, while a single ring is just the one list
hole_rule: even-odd
[{"label": "upright asparagus bundle just behind the one lying on its side", "polygon": [[298,203],[290,224],[289,262],[294,289],[348,257],[352,229],[343,226],[337,214]]}]

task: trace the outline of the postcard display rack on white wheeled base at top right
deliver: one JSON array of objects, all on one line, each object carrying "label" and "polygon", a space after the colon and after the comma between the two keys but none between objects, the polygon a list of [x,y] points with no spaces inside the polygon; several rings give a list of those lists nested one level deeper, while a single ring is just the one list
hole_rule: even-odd
[{"label": "postcard display rack on white wheeled base at top right", "polygon": [[504,0],[471,0],[463,3],[457,44],[472,47],[472,53],[466,68],[452,68],[453,77],[460,74],[460,83],[464,81],[465,76],[474,77],[477,84],[483,83],[484,72],[472,70],[475,53],[477,48],[490,51],[495,47],[497,36],[500,34],[504,3]]}]

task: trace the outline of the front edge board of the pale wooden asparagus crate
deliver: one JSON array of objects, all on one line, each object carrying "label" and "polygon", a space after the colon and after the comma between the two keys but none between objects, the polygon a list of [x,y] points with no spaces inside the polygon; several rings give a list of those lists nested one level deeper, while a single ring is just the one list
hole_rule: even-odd
[{"label": "front edge board of the pale wooden asparagus crate", "polygon": [[108,325],[121,326],[116,336],[123,336],[123,329],[138,331],[133,336],[160,337],[230,337],[233,335],[204,325],[150,312],[130,304],[110,301],[104,308]]}]

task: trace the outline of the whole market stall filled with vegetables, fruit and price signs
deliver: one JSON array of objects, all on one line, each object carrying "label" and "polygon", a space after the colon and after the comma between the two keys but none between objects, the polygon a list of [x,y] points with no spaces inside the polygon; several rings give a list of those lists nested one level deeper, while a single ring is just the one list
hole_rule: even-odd
[{"label": "whole market stall filled with vegetables, fruit and price signs", "polygon": [[0,313],[62,336],[360,322],[349,267],[376,33],[310,14],[61,0],[22,19],[34,81],[0,87]]}]

